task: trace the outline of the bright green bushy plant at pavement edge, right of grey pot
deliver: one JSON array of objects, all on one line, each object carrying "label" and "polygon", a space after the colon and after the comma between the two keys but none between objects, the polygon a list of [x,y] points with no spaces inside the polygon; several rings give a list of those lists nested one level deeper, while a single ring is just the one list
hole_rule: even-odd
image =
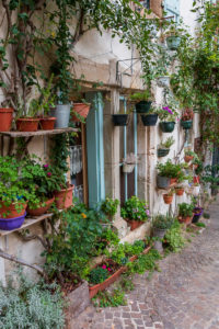
[{"label": "bright green bushy plant at pavement edge, right of grey pot", "polygon": [[168,249],[173,252],[178,252],[185,245],[185,239],[182,236],[181,225],[175,220],[164,236],[164,241]]}]

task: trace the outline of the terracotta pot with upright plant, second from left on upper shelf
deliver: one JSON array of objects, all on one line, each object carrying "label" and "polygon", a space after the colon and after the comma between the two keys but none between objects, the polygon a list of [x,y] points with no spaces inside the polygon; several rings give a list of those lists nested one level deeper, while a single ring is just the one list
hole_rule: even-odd
[{"label": "terracotta pot with upright plant, second from left on upper shelf", "polygon": [[36,132],[39,123],[37,114],[38,107],[35,100],[30,101],[26,109],[24,109],[23,101],[20,100],[15,116],[16,129],[19,132]]}]

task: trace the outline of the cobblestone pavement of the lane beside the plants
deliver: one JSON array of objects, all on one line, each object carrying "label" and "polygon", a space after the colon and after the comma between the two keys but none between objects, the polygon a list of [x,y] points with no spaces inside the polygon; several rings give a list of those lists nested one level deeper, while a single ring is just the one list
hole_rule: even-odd
[{"label": "cobblestone pavement of the lane beside the plants", "polygon": [[219,329],[219,202],[204,232],[160,262],[148,281],[136,275],[128,305],[89,307],[71,329]]}]

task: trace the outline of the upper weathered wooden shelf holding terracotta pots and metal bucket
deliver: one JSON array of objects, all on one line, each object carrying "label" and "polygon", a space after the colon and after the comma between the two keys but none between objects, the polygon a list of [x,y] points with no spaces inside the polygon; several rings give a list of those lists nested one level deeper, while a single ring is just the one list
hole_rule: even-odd
[{"label": "upper weathered wooden shelf holding terracotta pots and metal bucket", "polygon": [[45,136],[45,135],[57,135],[64,133],[78,133],[79,128],[57,128],[53,131],[37,131],[37,132],[0,132],[3,136],[9,137],[31,137],[31,136]]}]

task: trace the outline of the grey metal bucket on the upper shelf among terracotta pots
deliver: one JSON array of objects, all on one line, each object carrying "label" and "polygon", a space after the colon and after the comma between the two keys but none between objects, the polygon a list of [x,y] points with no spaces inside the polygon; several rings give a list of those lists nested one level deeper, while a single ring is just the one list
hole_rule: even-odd
[{"label": "grey metal bucket on the upper shelf among terracotta pots", "polygon": [[71,104],[57,104],[50,110],[50,116],[56,117],[55,128],[68,128]]}]

